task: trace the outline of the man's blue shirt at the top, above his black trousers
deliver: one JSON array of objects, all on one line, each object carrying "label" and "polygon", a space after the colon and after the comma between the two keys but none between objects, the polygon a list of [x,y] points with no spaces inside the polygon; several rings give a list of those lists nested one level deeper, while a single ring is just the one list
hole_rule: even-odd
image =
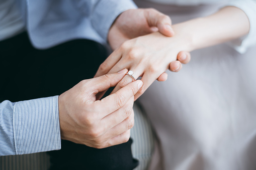
[{"label": "man's blue shirt at the top, above his black trousers", "polygon": [[106,44],[108,31],[117,16],[136,8],[130,0],[22,0],[22,3],[21,7],[27,6],[22,16],[31,42],[38,49],[77,38]]}]

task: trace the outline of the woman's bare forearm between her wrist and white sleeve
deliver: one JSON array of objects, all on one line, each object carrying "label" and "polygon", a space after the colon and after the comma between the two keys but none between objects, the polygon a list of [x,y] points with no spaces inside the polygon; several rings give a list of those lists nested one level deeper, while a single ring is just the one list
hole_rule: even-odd
[{"label": "woman's bare forearm between her wrist and white sleeve", "polygon": [[217,13],[173,26],[175,36],[188,40],[187,48],[193,51],[213,46],[248,34],[250,25],[245,13],[236,7],[225,7]]}]

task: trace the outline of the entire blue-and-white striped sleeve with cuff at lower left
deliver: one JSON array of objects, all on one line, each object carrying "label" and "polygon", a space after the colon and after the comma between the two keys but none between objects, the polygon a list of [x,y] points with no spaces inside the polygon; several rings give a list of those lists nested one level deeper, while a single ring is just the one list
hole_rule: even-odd
[{"label": "entire blue-and-white striped sleeve with cuff at lower left", "polygon": [[0,103],[0,155],[60,148],[58,96]]}]

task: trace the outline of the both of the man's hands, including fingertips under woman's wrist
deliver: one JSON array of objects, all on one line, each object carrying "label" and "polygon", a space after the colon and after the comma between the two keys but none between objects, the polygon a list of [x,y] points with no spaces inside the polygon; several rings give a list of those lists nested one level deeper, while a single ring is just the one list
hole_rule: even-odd
[{"label": "both of the man's hands, including fingertips under woman's wrist", "polygon": [[[116,49],[127,40],[149,33],[159,34],[159,31],[164,37],[174,36],[171,24],[169,17],[153,9],[127,10],[112,25],[108,41],[112,49]],[[182,61],[189,61],[190,54],[182,52],[180,56],[184,54],[186,59]],[[170,64],[170,68],[177,72],[181,69],[181,63],[175,61]],[[83,80],[59,96],[62,139],[96,148],[128,141],[134,124],[134,95],[143,83],[140,80],[127,83],[120,90],[99,100],[104,91],[116,86],[128,70],[116,72]],[[164,72],[158,76],[159,81],[166,79],[167,74]]]}]

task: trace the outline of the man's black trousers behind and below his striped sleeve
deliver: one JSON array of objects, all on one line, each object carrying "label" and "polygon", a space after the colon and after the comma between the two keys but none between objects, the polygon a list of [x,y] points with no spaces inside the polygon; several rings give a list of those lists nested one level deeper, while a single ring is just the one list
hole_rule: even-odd
[{"label": "man's black trousers behind and below his striped sleeve", "polygon": [[[31,45],[27,33],[0,42],[0,102],[60,95],[83,79],[93,78],[106,59],[105,48],[73,40],[47,50]],[[50,151],[51,169],[133,169],[138,161],[128,142],[103,149],[61,141]]]}]

